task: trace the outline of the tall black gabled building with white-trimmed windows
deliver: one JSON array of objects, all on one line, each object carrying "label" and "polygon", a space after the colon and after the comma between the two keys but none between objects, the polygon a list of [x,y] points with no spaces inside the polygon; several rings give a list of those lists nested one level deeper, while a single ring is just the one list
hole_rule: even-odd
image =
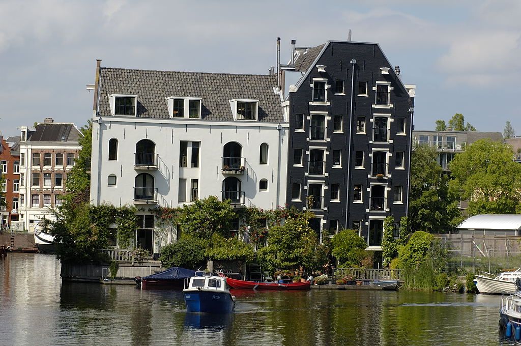
[{"label": "tall black gabled building with white-trimmed windows", "polygon": [[376,43],[293,51],[287,202],[313,211],[322,237],[355,228],[380,250],[383,219],[407,213],[415,86]]}]

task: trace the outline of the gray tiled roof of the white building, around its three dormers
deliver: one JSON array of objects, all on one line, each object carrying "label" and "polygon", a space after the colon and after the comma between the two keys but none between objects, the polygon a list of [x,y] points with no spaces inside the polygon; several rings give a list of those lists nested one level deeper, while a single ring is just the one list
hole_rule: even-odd
[{"label": "gray tiled roof of the white building, around its three dormers", "polygon": [[100,76],[101,116],[110,116],[109,94],[138,95],[137,116],[169,118],[165,97],[202,97],[204,120],[232,121],[229,100],[259,100],[258,120],[282,122],[280,96],[273,88],[275,75],[174,72],[103,67]]}]

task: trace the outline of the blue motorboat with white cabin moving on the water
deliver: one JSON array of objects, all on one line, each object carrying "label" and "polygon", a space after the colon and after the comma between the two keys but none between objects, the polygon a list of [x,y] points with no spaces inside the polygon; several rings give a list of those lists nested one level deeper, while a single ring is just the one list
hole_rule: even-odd
[{"label": "blue motorboat with white cabin moving on the water", "polygon": [[189,313],[227,314],[235,307],[226,278],[215,272],[196,271],[187,279],[183,297]]}]

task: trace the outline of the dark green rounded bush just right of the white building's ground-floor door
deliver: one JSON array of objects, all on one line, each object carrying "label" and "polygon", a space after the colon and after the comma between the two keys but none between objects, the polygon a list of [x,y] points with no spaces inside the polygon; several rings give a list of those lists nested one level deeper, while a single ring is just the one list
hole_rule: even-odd
[{"label": "dark green rounded bush just right of the white building's ground-floor door", "polygon": [[183,267],[198,269],[206,267],[206,248],[208,240],[184,236],[177,243],[163,246],[159,261],[164,267]]}]

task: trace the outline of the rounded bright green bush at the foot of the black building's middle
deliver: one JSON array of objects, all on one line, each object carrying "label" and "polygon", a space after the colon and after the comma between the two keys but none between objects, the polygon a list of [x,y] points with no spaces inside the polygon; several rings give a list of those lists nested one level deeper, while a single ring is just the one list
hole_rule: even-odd
[{"label": "rounded bright green bush at the foot of the black building's middle", "polygon": [[339,266],[344,268],[360,267],[367,256],[367,242],[358,236],[358,231],[344,229],[333,237],[332,254],[337,258]]}]

